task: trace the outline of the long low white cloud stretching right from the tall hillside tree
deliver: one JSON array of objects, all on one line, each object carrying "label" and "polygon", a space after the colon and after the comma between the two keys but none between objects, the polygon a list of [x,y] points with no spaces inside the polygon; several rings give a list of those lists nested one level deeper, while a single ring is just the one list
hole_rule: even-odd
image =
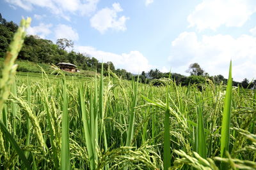
[{"label": "long low white cloud stretching right from the tall hillside tree", "polygon": [[87,53],[103,62],[111,61],[116,68],[126,69],[127,71],[138,74],[141,71],[149,71],[150,65],[148,60],[138,51],[131,51],[129,53],[116,54],[111,52],[104,52],[93,48],[92,46],[75,46],[75,50],[81,53]]}]

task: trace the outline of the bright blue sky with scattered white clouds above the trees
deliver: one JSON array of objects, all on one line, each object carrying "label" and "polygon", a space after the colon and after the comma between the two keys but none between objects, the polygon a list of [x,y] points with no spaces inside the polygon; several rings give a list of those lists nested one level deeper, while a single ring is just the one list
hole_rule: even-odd
[{"label": "bright blue sky with scattered white clouds above the trees", "polygon": [[29,34],[72,39],[88,53],[131,73],[186,74],[198,62],[210,75],[256,78],[255,0],[3,0],[0,13]]}]

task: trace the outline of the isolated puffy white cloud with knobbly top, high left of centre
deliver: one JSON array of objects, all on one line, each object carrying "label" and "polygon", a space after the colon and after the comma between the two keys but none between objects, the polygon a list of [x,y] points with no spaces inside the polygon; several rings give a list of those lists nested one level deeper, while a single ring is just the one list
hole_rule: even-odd
[{"label": "isolated puffy white cloud with knobbly top, high left of centre", "polygon": [[102,34],[108,29],[126,30],[125,22],[129,18],[125,16],[117,17],[117,13],[123,11],[119,3],[114,3],[112,7],[113,9],[103,8],[90,19],[91,26]]}]

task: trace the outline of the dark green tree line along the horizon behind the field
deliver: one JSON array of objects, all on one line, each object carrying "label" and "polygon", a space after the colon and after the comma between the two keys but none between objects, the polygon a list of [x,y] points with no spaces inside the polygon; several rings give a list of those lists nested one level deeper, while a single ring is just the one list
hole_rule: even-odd
[{"label": "dark green tree line along the horizon behind the field", "polygon": [[[4,57],[8,45],[12,40],[13,33],[17,31],[17,29],[17,24],[12,21],[6,21],[0,13],[0,57]],[[72,48],[73,46],[74,42],[65,38],[58,39],[56,44],[54,44],[51,40],[28,35],[24,40],[24,45],[20,50],[18,59],[49,64],[70,62],[72,64],[76,64],[80,69],[92,71],[97,70],[97,72],[101,71],[101,62],[99,62],[95,57],[90,57],[86,53],[67,51],[67,48]],[[117,76],[126,80],[132,79],[133,75],[131,73],[127,72],[125,69],[115,69],[114,64],[110,61],[103,63],[103,67],[104,74],[108,74],[109,67],[109,69],[111,69],[111,71],[113,71]],[[208,78],[217,84],[227,84],[227,79],[224,78],[224,76],[221,74],[217,76],[209,76],[209,74],[205,73],[204,69],[202,69],[198,63],[191,64],[187,72],[190,73],[190,76],[172,73],[171,78],[181,85],[189,85],[189,83],[205,83],[205,78]],[[159,80],[160,78],[168,77],[169,73],[161,73],[158,69],[151,69],[148,73],[143,71],[139,76],[141,83],[149,83],[152,80]],[[134,76],[134,78],[138,78],[138,75]],[[233,85],[240,85],[241,87],[251,89],[256,87],[256,81],[250,83],[248,79],[244,78],[241,83],[233,81]]]}]

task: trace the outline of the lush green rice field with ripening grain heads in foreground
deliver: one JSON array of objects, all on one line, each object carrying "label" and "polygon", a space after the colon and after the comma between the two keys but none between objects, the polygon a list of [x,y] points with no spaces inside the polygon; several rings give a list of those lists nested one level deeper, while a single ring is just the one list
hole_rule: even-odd
[{"label": "lush green rice field with ripening grain heads in foreground", "polygon": [[232,87],[231,62],[227,86],[166,78],[155,87],[111,71],[35,79],[15,77],[19,49],[10,46],[0,80],[1,169],[256,169],[256,93]]}]

